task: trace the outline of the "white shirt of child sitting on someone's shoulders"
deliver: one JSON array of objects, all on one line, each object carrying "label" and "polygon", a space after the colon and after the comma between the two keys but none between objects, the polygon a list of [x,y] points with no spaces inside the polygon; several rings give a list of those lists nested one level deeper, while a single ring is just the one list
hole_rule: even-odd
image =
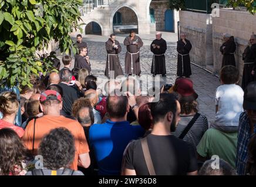
[{"label": "white shirt of child sitting on someone's shoulders", "polygon": [[214,124],[217,126],[238,127],[240,114],[244,111],[244,91],[235,84],[218,86],[215,94],[215,105],[218,112],[215,115]]}]

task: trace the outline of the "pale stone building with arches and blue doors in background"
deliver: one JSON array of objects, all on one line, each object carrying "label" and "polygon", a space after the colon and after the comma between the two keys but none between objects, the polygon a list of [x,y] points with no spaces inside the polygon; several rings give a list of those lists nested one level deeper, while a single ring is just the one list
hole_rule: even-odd
[{"label": "pale stone building with arches and blue doors in background", "polygon": [[177,32],[178,12],[162,0],[84,0],[83,34]]}]

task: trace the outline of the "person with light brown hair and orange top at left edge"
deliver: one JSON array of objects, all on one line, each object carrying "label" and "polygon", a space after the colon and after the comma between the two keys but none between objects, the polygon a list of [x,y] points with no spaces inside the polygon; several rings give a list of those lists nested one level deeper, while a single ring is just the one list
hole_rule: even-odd
[{"label": "person with light brown hair and orange top at left edge", "polygon": [[21,127],[14,125],[15,116],[18,113],[18,109],[19,102],[16,93],[2,92],[0,95],[0,112],[2,112],[4,117],[0,119],[0,129],[13,129],[19,137],[22,137],[24,130]]}]

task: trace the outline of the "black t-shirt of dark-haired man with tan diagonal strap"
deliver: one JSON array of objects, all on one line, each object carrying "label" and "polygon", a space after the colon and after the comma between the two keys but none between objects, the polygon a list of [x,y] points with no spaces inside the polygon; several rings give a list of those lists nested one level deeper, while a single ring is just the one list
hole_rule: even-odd
[{"label": "black t-shirt of dark-haired man with tan diagonal strap", "polygon": [[[196,152],[185,141],[173,135],[149,134],[147,143],[156,175],[187,175],[197,171]],[[140,140],[129,144],[124,161],[124,168],[135,169],[136,175],[149,175]]]}]

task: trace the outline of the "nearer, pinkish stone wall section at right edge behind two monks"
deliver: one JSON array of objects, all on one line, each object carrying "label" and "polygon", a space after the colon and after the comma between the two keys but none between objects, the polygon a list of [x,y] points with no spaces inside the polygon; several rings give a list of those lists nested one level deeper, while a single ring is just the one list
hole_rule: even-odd
[{"label": "nearer, pinkish stone wall section at right edge behind two monks", "polygon": [[214,71],[218,72],[221,68],[220,46],[223,33],[229,33],[235,37],[237,50],[235,61],[242,77],[243,63],[242,53],[248,44],[252,32],[256,33],[256,16],[245,11],[232,9],[220,9],[220,17],[213,18],[213,57]]}]

